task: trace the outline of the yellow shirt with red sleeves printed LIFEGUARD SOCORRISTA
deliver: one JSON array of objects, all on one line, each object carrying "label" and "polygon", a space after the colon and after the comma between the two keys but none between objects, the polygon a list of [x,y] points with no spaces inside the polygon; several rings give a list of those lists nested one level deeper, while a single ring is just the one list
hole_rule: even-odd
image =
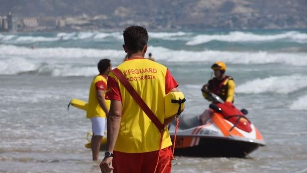
[{"label": "yellow shirt with red sleeves printed LIFEGUARD SOCORRISTA", "polygon": [[[163,124],[164,96],[178,86],[169,70],[145,58],[130,58],[117,68]],[[161,133],[113,72],[109,73],[106,99],[122,101],[122,120],[115,151],[143,153],[159,150]],[[165,127],[161,149],[171,145],[169,131]]]}]

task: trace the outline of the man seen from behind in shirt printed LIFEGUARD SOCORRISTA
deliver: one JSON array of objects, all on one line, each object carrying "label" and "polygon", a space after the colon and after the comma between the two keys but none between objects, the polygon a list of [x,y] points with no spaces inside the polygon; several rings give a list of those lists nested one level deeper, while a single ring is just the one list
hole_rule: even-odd
[{"label": "man seen from behind in shirt printed LIFEGUARD SOCORRISTA", "polygon": [[[106,99],[111,100],[111,107],[101,172],[161,173],[164,169],[164,173],[170,173],[172,142],[163,124],[172,122],[175,115],[164,114],[164,96],[177,92],[178,83],[165,66],[144,58],[148,42],[145,28],[127,27],[123,37],[123,48],[129,59],[113,69],[108,77]],[[130,95],[131,92],[136,95]],[[152,92],[154,94],[149,94]],[[140,104],[140,100],[144,104]],[[151,117],[157,121],[150,121]]]}]

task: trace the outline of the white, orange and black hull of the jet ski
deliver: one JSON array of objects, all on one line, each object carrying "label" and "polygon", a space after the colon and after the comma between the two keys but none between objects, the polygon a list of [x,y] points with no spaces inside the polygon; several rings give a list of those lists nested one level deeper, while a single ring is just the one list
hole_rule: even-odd
[{"label": "white, orange and black hull of the jet ski", "polygon": [[[190,124],[187,124],[189,121]],[[218,113],[214,113],[205,125],[196,125],[197,123],[199,123],[197,117],[181,119],[175,143],[175,155],[245,157],[259,146],[265,145],[262,135],[252,123],[251,130],[244,131]],[[169,134],[173,141],[175,123],[169,126]]]}]

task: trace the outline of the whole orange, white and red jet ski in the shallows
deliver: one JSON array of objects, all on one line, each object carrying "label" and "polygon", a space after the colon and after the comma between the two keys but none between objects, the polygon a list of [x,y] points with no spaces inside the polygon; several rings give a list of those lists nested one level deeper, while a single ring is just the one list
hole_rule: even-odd
[{"label": "whole orange, white and red jet ski in the shallows", "polygon": [[[213,110],[210,119],[202,125],[199,116],[182,116],[175,142],[175,155],[194,157],[246,157],[258,147],[265,146],[261,133],[246,115],[230,102],[208,93]],[[169,134],[175,135],[175,125],[169,125]]]}]

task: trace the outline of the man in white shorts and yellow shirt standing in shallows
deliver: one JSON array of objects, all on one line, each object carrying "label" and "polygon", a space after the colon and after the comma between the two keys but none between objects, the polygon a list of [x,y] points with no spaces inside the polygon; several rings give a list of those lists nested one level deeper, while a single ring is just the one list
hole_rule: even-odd
[{"label": "man in white shorts and yellow shirt standing in shallows", "polygon": [[112,70],[111,61],[101,59],[97,64],[97,68],[99,74],[91,82],[86,113],[86,118],[91,119],[92,123],[91,148],[93,160],[98,160],[100,141],[103,138],[106,117],[109,113],[104,96],[107,88],[107,76]]}]

